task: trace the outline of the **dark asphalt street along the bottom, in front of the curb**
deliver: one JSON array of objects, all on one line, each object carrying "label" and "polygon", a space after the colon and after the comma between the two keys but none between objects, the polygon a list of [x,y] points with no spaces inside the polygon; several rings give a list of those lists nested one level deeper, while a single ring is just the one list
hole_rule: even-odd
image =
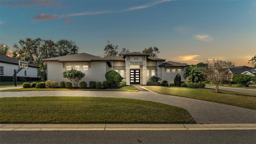
[{"label": "dark asphalt street along the bottom, in front of the curb", "polygon": [[0,131],[1,144],[256,144],[256,130]]}]

